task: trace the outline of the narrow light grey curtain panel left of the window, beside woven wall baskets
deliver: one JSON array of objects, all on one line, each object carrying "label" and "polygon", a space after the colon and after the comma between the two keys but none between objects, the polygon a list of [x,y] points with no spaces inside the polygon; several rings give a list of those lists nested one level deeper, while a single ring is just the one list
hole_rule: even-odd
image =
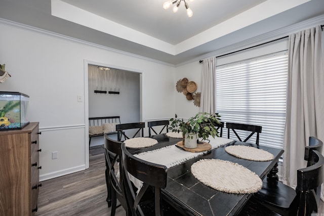
[{"label": "narrow light grey curtain panel left of the window, beside woven wall baskets", "polygon": [[216,58],[204,59],[201,73],[200,112],[215,113]]}]

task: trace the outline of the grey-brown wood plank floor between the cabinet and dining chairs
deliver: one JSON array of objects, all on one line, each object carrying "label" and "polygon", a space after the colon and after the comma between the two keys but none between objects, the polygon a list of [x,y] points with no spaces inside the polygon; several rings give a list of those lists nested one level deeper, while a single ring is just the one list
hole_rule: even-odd
[{"label": "grey-brown wood plank floor between the cabinet and dining chairs", "polygon": [[[110,215],[106,197],[105,159],[101,146],[90,148],[89,169],[42,182],[36,216],[51,215]],[[320,214],[324,203],[320,203]],[[125,216],[122,207],[116,216]]]}]

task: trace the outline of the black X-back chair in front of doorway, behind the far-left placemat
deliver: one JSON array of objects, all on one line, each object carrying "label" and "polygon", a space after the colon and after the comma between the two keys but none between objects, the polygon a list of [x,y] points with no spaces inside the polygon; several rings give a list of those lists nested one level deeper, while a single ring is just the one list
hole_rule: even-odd
[{"label": "black X-back chair in front of doorway, behind the far-left placemat", "polygon": [[[145,122],[116,124],[117,140],[121,141],[121,138],[123,136],[124,136],[124,140],[135,138],[136,136],[144,137],[144,127],[145,127]],[[126,133],[125,130],[128,130],[128,133]],[[129,134],[133,134],[133,136],[130,136]]]}]

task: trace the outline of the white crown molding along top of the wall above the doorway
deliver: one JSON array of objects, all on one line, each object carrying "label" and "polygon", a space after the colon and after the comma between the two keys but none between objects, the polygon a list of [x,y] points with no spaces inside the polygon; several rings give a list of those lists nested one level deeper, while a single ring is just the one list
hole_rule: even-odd
[{"label": "white crown molding along top of the wall above the doorway", "polygon": [[38,34],[43,34],[43,35],[47,35],[47,36],[51,36],[51,37],[56,37],[56,38],[67,40],[67,41],[70,41],[70,42],[74,42],[74,43],[80,44],[80,45],[86,45],[86,46],[106,50],[106,51],[109,51],[109,52],[123,54],[123,55],[126,55],[126,56],[130,56],[130,57],[134,57],[134,58],[138,58],[138,59],[142,59],[142,60],[146,60],[146,61],[150,61],[150,62],[154,62],[154,63],[158,63],[158,64],[168,65],[168,66],[171,66],[171,67],[175,67],[174,64],[170,64],[170,63],[167,63],[167,62],[158,61],[158,60],[155,60],[155,59],[147,58],[147,57],[136,55],[136,54],[133,54],[133,53],[128,53],[128,52],[125,52],[125,51],[120,51],[120,50],[116,50],[116,49],[113,49],[113,48],[101,46],[101,45],[98,45],[98,44],[95,44],[95,43],[92,43],[92,42],[89,42],[89,41],[77,39],[77,38],[74,38],[74,37],[66,36],[64,34],[55,33],[55,32],[52,32],[52,31],[48,31],[48,30],[45,30],[45,29],[25,25],[25,24],[22,24],[22,23],[11,21],[11,20],[6,20],[6,19],[3,19],[3,18],[0,18],[0,24],[4,24],[4,25],[7,25],[7,26],[23,29],[23,30],[26,30],[26,31],[31,31],[31,32],[38,33]]}]

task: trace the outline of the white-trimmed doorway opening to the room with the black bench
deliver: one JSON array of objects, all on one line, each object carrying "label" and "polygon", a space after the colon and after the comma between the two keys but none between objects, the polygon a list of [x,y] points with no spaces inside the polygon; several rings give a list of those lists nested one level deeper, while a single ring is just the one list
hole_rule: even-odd
[{"label": "white-trimmed doorway opening to the room with the black bench", "polygon": [[[141,121],[141,95],[141,71],[107,66],[94,62],[85,63],[86,168],[89,167],[88,118],[120,116],[121,123]],[[115,137],[115,139],[117,139],[117,137]],[[91,146],[102,144],[103,137],[91,139]]]}]

